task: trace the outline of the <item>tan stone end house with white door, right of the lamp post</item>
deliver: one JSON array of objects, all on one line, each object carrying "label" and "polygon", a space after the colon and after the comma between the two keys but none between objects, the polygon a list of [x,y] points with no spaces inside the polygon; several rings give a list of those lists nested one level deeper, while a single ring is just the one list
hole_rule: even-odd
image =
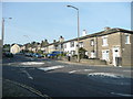
[{"label": "tan stone end house with white door, right of the lamp post", "polygon": [[89,58],[105,59],[109,65],[133,65],[133,31],[106,29],[102,32],[80,37]]}]

